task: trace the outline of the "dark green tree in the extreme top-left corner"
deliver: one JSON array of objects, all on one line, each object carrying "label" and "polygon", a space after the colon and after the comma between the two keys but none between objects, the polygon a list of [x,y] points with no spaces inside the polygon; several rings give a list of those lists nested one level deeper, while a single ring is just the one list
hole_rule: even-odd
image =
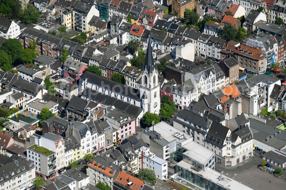
[{"label": "dark green tree in the extreme top-left corner", "polygon": [[18,0],[0,1],[0,15],[18,21],[20,18],[20,10],[21,10],[21,2]]}]

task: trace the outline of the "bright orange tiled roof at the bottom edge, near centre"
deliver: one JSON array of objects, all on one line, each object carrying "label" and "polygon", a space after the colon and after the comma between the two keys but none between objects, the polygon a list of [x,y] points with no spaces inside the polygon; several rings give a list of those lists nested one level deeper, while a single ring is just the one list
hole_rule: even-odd
[{"label": "bright orange tiled roof at the bottom edge, near centre", "polygon": [[[125,173],[123,171],[120,171],[115,181],[126,186],[128,189],[132,189],[132,190],[140,190],[141,187],[144,185],[144,182],[142,180],[128,173]],[[133,182],[133,183],[128,185],[129,182]]]}]

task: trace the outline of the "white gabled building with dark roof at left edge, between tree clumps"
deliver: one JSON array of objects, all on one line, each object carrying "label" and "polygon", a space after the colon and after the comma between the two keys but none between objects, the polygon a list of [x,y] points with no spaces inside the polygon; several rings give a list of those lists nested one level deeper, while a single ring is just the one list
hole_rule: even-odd
[{"label": "white gabled building with dark roof at left edge, between tree clumps", "polygon": [[0,16],[0,37],[5,39],[17,38],[20,35],[20,27],[13,20]]}]

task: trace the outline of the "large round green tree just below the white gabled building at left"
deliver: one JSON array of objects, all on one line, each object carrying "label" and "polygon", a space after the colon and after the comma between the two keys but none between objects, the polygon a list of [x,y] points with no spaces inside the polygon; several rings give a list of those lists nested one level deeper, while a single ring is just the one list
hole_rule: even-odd
[{"label": "large round green tree just below the white gabled building at left", "polygon": [[17,39],[10,38],[2,44],[1,50],[4,50],[8,55],[10,55],[12,58],[12,62],[15,62],[15,60],[23,51],[23,46],[21,42],[19,42]]}]

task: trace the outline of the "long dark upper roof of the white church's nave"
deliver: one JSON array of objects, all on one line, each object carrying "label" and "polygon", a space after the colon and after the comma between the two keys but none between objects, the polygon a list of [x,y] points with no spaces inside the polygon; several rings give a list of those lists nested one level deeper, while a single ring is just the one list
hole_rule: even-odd
[{"label": "long dark upper roof of the white church's nave", "polygon": [[102,76],[98,76],[98,75],[93,74],[91,72],[84,72],[80,76],[80,78],[82,78],[82,80],[84,80],[86,78],[88,82],[90,82],[92,84],[96,84],[98,86],[102,86],[102,84],[105,86],[108,86],[109,90],[111,90],[114,85],[121,86],[121,89],[120,88],[114,88],[112,90],[114,90],[116,93],[120,93],[124,96],[128,96],[130,98],[133,98],[134,100],[140,100],[140,97],[139,97],[140,92],[138,91],[138,89],[131,88],[130,86],[126,86],[126,85],[114,82],[112,80],[109,80],[109,79],[102,77]]}]

